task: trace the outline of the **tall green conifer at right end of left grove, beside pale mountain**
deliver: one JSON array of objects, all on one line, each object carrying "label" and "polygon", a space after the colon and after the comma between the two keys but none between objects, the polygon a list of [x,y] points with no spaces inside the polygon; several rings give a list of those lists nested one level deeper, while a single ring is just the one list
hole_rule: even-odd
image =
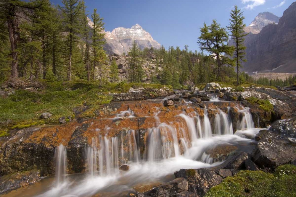
[{"label": "tall green conifer at right end of left grove, beside pale mountain", "polygon": [[[94,26],[92,30],[92,47],[93,47],[93,80],[96,78],[96,67],[99,67],[99,79],[100,86],[102,85],[103,67],[106,65],[106,53],[103,50],[103,44],[106,42],[104,40],[104,22],[103,18],[96,13],[94,9],[93,14],[91,14]],[[105,71],[104,71],[105,72]]]}]

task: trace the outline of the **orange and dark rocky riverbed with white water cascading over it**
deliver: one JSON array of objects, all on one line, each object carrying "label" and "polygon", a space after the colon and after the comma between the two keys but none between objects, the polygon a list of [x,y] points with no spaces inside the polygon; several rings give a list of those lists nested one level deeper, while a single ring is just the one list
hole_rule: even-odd
[{"label": "orange and dark rocky riverbed with white water cascading over it", "polygon": [[[272,171],[295,163],[296,96],[259,87],[234,92],[215,83],[192,90],[131,89],[114,94],[96,117],[76,113],[60,125],[10,131],[0,138],[0,192],[55,175],[62,178],[58,196],[75,191],[77,196],[205,196],[239,170]],[[85,192],[77,173],[93,181]],[[67,181],[65,174],[72,174]],[[137,191],[143,188],[139,184],[150,186]],[[50,191],[47,186],[39,194]]]}]

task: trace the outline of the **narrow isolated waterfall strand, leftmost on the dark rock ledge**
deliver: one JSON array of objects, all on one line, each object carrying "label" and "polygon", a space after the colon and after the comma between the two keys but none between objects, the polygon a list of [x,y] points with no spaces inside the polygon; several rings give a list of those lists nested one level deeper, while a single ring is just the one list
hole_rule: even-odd
[{"label": "narrow isolated waterfall strand, leftmost on the dark rock ledge", "polygon": [[64,145],[60,144],[54,150],[54,157],[56,160],[55,165],[55,179],[56,186],[59,187],[66,180],[67,169],[67,149]]}]

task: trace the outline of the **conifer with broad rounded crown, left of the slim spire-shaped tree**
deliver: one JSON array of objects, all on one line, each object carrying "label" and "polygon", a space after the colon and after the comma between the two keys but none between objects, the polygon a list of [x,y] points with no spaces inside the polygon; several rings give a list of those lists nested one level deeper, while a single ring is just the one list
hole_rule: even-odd
[{"label": "conifer with broad rounded crown, left of the slim spire-shaped tree", "polygon": [[204,23],[200,28],[200,37],[197,43],[202,51],[207,51],[211,57],[217,61],[216,77],[219,79],[223,65],[233,66],[232,56],[234,47],[228,45],[228,34],[224,27],[221,27],[216,20],[213,20],[210,26]]}]

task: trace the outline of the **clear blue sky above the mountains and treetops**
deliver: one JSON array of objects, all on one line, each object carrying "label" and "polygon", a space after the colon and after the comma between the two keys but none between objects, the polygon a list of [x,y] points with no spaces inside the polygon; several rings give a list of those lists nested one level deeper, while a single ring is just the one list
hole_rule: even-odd
[{"label": "clear blue sky above the mountains and treetops", "polygon": [[[260,12],[272,12],[282,16],[295,0],[85,0],[89,16],[94,8],[104,18],[105,30],[139,23],[154,40],[165,48],[189,45],[197,49],[199,28],[212,19],[224,27],[229,23],[229,13],[236,4],[244,11],[249,25]],[[60,4],[61,0],[52,0]]]}]

